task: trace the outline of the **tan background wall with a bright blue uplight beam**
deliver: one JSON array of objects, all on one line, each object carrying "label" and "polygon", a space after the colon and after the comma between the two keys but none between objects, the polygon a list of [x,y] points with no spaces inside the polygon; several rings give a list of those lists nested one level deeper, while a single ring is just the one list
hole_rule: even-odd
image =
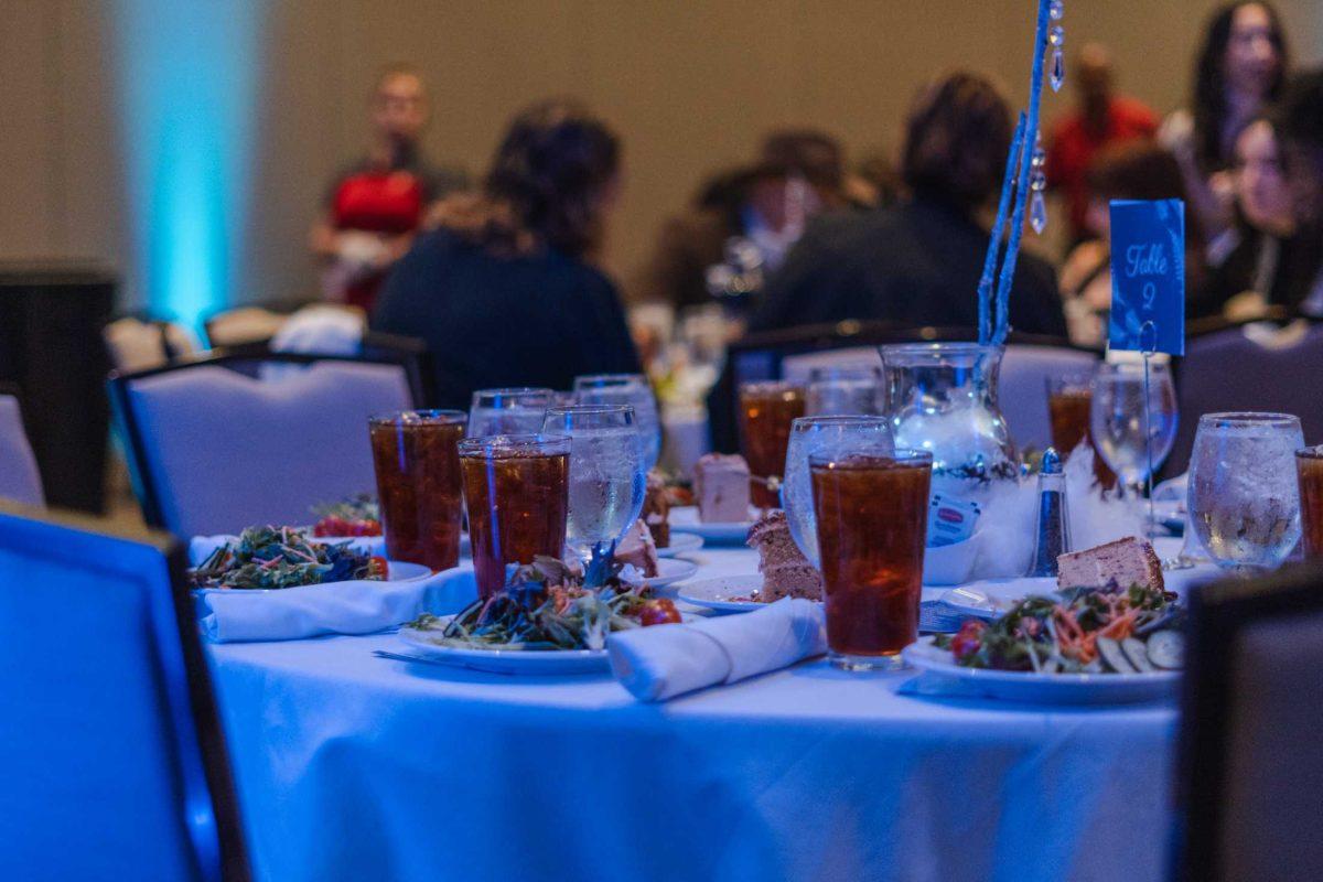
[{"label": "tan background wall with a bright blue uplight beam", "polygon": [[[1119,85],[1180,104],[1212,0],[1068,0],[1068,48],[1110,45]],[[1323,4],[1282,0],[1301,61]],[[93,257],[128,304],[192,317],[311,294],[308,222],[363,147],[376,70],[426,74],[435,159],[478,172],[504,120],[586,98],[626,139],[609,262],[638,263],[697,181],[766,128],[892,147],[922,79],[954,65],[1023,102],[1032,0],[0,0],[0,259]],[[1045,95],[1052,118],[1066,104]]]}]

